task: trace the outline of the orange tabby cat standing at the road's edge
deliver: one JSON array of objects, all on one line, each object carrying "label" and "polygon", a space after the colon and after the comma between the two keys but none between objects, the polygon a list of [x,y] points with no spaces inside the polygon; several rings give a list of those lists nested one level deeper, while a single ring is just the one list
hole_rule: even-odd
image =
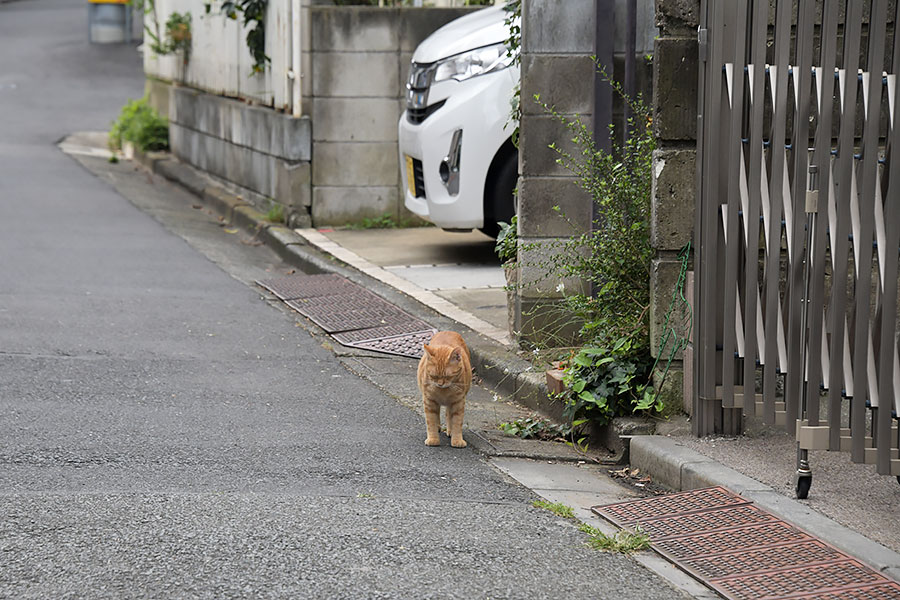
[{"label": "orange tabby cat standing at the road's edge", "polygon": [[450,445],[465,448],[462,422],[466,412],[466,394],[472,387],[469,349],[455,331],[439,331],[425,344],[425,354],[416,374],[422,402],[425,404],[426,446],[441,445],[441,407],[447,407],[447,433]]}]

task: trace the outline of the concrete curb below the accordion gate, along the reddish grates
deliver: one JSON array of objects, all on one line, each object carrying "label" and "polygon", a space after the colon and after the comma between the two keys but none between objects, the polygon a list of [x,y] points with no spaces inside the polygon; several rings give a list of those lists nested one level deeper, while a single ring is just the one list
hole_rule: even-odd
[{"label": "concrete curb below the accordion gate, along the reddish grates", "polygon": [[631,440],[631,466],[675,490],[722,486],[761,508],[900,581],[900,554],[832,521],[797,500],[691,450],[676,439],[648,435]]}]

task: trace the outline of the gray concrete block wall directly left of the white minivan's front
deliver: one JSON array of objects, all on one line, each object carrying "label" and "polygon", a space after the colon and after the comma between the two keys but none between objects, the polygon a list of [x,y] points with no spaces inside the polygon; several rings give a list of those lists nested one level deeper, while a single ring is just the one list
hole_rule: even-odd
[{"label": "gray concrete block wall directly left of the white minivan's front", "polygon": [[[400,193],[397,122],[416,46],[471,9],[312,6],[312,221],[409,218]],[[307,104],[305,102],[305,104]]]}]

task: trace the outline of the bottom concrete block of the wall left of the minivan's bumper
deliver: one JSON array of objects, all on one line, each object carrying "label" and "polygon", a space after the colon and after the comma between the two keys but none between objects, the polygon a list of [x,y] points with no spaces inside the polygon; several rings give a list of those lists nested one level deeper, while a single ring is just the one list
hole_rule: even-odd
[{"label": "bottom concrete block of the wall left of the minivan's bumper", "polygon": [[400,194],[391,187],[314,187],[312,221],[315,227],[347,225],[385,213],[396,215]]}]

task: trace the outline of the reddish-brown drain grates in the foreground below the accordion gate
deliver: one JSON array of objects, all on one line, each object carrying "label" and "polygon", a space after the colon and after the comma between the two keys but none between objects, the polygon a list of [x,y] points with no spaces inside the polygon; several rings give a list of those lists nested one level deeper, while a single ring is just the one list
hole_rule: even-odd
[{"label": "reddish-brown drain grates in the foreground below the accordion gate", "polygon": [[595,506],[640,528],[654,549],[736,600],[900,600],[900,583],[724,488]]}]

